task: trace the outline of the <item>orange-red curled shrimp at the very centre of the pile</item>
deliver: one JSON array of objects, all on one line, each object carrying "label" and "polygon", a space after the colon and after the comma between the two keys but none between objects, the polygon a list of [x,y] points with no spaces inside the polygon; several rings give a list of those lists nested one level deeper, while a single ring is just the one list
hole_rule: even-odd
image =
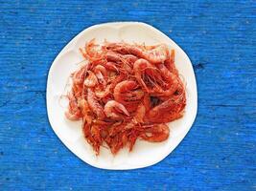
[{"label": "orange-red curled shrimp at the very centre of the pile", "polygon": [[137,101],[144,96],[143,91],[138,88],[138,84],[133,80],[125,80],[114,88],[114,97],[120,103],[128,104],[130,101]]}]

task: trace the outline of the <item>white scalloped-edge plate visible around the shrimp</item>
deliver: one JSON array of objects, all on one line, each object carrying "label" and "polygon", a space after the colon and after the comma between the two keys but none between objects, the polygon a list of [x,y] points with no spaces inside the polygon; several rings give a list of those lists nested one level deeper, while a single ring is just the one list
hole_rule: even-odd
[{"label": "white scalloped-edge plate visible around the shrimp", "polygon": [[[66,90],[67,79],[78,69],[82,60],[79,48],[85,42],[96,38],[101,43],[109,42],[146,43],[147,45],[166,43],[175,49],[175,65],[186,81],[187,105],[184,117],[170,123],[170,138],[164,142],[151,143],[137,140],[132,152],[122,149],[115,157],[110,151],[101,148],[99,157],[94,155],[91,146],[82,137],[81,121],[70,121],[64,117],[65,107],[59,102]],[[192,64],[186,55],[167,35],[150,25],[138,22],[105,23],[85,29],[73,38],[58,54],[48,74],[47,112],[49,121],[58,138],[76,156],[86,163],[104,169],[135,169],[150,166],[166,158],[190,130],[198,109],[198,92]],[[65,103],[66,104],[66,103]]]}]

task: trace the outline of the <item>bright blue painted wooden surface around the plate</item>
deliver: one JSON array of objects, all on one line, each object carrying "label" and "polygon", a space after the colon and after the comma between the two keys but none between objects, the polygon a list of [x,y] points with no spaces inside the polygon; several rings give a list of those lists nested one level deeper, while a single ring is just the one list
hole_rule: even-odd
[{"label": "bright blue painted wooden surface around the plate", "polygon": [[[0,0],[0,190],[256,190],[256,2]],[[83,29],[143,21],[190,56],[198,117],[160,163],[107,171],[50,127],[49,68]]]}]

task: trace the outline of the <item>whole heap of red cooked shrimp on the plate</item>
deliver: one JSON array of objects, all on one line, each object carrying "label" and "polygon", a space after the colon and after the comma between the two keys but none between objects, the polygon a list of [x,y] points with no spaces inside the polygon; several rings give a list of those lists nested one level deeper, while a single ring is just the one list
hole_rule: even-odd
[{"label": "whole heap of red cooked shrimp on the plate", "polygon": [[184,84],[175,68],[175,50],[167,45],[104,42],[80,49],[85,64],[71,75],[65,116],[82,119],[84,138],[96,155],[100,147],[117,154],[132,150],[140,138],[169,138],[166,123],[183,116]]}]

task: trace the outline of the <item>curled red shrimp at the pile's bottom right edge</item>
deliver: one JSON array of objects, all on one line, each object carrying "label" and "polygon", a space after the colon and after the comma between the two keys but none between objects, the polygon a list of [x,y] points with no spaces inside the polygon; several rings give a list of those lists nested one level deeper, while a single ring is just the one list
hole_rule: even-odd
[{"label": "curled red shrimp at the pile's bottom right edge", "polygon": [[[150,135],[149,135],[150,134]],[[150,142],[162,142],[169,138],[170,130],[166,124],[153,124],[140,136]]]}]

